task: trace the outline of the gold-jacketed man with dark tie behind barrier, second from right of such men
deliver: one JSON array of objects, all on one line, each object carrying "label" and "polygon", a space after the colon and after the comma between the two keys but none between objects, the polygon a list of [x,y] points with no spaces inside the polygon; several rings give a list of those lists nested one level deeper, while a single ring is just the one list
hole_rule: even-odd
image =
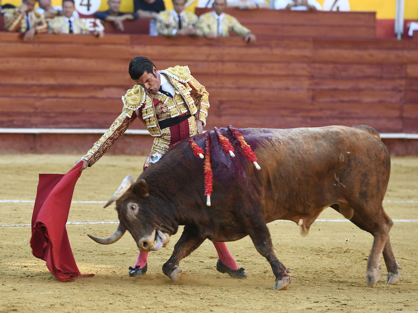
[{"label": "gold-jacketed man with dark tie behind barrier, second from right of such men", "polygon": [[184,11],[186,0],[173,0],[174,10],[162,11],[157,18],[158,35],[196,36],[199,18],[194,13]]}]

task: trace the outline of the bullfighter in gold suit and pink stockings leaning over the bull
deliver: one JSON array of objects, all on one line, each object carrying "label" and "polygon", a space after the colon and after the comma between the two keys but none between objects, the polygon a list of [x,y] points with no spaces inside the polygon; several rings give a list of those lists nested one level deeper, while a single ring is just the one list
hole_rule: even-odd
[{"label": "bullfighter in gold suit and pink stockings leaning over the bull", "polygon": [[[157,71],[148,58],[136,57],[130,62],[129,74],[137,84],[122,96],[122,113],[87,154],[76,162],[83,162],[81,171],[96,163],[136,117],[155,137],[144,170],[157,162],[173,144],[203,132],[209,108],[209,93],[191,76],[187,66]],[[217,270],[234,278],[246,278],[244,269],[238,269],[225,243],[213,244],[219,255]],[[147,259],[148,252],[140,252],[134,268],[129,268],[129,275],[133,277],[145,274]]]}]

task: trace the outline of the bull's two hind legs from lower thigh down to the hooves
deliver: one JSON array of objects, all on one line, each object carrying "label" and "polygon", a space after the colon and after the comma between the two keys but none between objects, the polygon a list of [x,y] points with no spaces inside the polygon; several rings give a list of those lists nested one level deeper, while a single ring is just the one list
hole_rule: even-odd
[{"label": "bull's two hind legs from lower thigh down to the hooves", "polygon": [[387,283],[394,284],[400,280],[398,263],[396,262],[389,239],[389,230],[393,222],[383,210],[382,204],[379,204],[379,206],[379,210],[356,210],[356,207],[352,206],[354,216],[350,220],[362,230],[370,232],[374,237],[372,250],[367,260],[366,275],[367,285],[369,286],[374,285],[382,275],[379,263],[381,253],[383,253],[387,270],[393,277],[389,278],[388,276]]}]

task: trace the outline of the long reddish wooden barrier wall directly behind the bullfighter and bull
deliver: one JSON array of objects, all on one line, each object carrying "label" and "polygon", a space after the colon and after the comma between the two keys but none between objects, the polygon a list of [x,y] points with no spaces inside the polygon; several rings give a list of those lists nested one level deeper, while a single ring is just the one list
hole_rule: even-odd
[{"label": "long reddish wooden barrier wall directly behind the bullfighter and bull", "polygon": [[[206,129],[367,124],[418,132],[417,41],[283,38],[248,45],[238,37],[39,35],[25,43],[0,33],[0,42],[0,127],[107,128],[133,86],[130,59],[147,56],[159,69],[188,65],[206,86]],[[139,121],[131,128],[144,129]],[[3,142],[14,138],[3,153],[26,151],[22,136],[3,135]],[[71,151],[89,149],[92,136],[99,137],[75,136]],[[38,149],[33,138],[29,151]]]}]

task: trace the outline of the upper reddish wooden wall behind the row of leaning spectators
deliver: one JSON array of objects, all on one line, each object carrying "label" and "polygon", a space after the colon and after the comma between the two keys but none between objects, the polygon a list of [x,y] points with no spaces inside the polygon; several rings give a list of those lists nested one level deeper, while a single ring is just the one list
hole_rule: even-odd
[{"label": "upper reddish wooden wall behind the row of leaning spectators", "polygon": [[[196,8],[201,15],[211,9]],[[320,37],[320,38],[367,38],[376,37],[375,12],[306,12],[288,10],[240,10],[227,9],[242,25],[262,37]],[[0,16],[0,31],[3,30]],[[105,33],[121,33],[113,23],[102,22]],[[149,20],[125,21],[127,34],[148,34]]]}]

